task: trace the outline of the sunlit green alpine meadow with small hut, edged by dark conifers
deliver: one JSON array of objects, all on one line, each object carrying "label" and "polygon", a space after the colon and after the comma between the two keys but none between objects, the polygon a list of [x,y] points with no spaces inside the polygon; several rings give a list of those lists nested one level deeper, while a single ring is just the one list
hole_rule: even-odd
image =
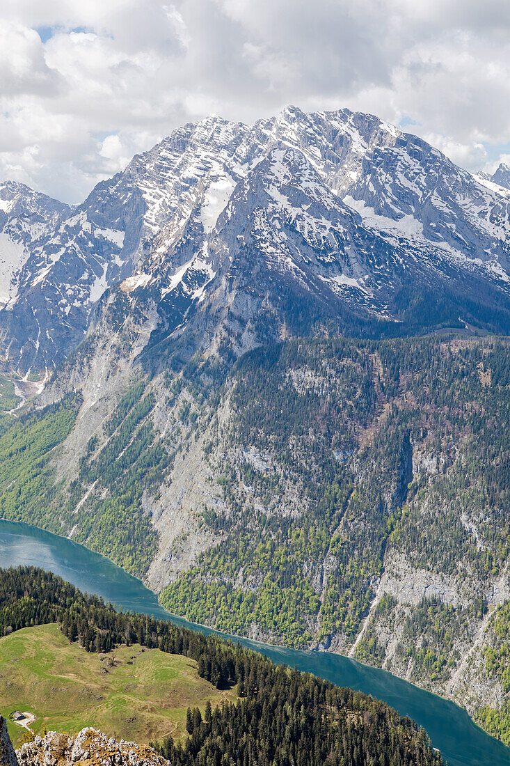
[{"label": "sunlit green alpine meadow with small hut, edged by dark conifers", "polygon": [[[185,733],[188,707],[204,712],[236,699],[198,676],[188,657],[119,647],[106,655],[70,644],[56,624],[24,628],[0,638],[0,712],[37,716],[34,732],[74,734],[83,726],[141,743]],[[8,721],[15,747],[24,728]]]}]

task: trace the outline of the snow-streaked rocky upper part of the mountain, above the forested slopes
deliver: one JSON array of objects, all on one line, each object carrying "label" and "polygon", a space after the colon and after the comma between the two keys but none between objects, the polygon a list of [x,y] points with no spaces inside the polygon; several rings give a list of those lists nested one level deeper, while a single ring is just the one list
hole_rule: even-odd
[{"label": "snow-streaked rocky upper part of the mountain, above the forested slopes", "polygon": [[100,321],[135,319],[152,344],[190,323],[208,342],[228,328],[240,351],[321,320],[417,325],[423,291],[424,326],[510,331],[502,178],[475,177],[375,116],[213,116],[73,209],[26,188],[14,206],[12,188],[0,192],[0,352],[18,372],[53,367]]}]

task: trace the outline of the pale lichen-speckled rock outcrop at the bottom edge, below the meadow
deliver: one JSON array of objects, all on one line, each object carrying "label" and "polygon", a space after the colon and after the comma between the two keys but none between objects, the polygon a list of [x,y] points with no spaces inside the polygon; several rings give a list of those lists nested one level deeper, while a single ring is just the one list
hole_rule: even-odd
[{"label": "pale lichen-speckled rock outcrop at the bottom edge, below the meadow", "polygon": [[95,728],[83,728],[74,737],[48,732],[16,752],[20,766],[168,766],[153,748],[123,739],[117,742]]}]

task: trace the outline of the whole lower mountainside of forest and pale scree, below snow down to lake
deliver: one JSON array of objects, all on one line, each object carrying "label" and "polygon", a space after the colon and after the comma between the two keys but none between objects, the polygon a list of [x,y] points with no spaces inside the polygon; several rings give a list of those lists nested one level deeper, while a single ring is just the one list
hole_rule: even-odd
[{"label": "whole lower mountainside of forest and pale scree, below snow down to lake", "polygon": [[[47,473],[5,463],[5,516],[72,533],[176,614],[351,653],[508,737],[491,712],[508,698],[506,339],[295,339],[237,361],[181,345],[124,380],[79,462],[85,417],[48,441]],[[33,449],[65,401],[0,446]]]}]

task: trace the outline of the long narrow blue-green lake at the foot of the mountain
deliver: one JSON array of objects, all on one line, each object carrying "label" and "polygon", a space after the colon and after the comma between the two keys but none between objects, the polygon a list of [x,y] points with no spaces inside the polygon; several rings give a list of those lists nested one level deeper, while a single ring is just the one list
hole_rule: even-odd
[{"label": "long narrow blue-green lake at the foot of the mountain", "polygon": [[[124,610],[152,614],[202,633],[214,632],[169,614],[152,591],[110,559],[37,527],[0,519],[0,567],[21,564],[53,571],[81,591],[99,594]],[[275,663],[296,666],[338,686],[351,686],[383,699],[427,729],[433,746],[440,749],[450,766],[510,766],[510,750],[486,735],[463,709],[391,673],[338,654],[301,652],[239,640],[244,647],[265,654]]]}]

